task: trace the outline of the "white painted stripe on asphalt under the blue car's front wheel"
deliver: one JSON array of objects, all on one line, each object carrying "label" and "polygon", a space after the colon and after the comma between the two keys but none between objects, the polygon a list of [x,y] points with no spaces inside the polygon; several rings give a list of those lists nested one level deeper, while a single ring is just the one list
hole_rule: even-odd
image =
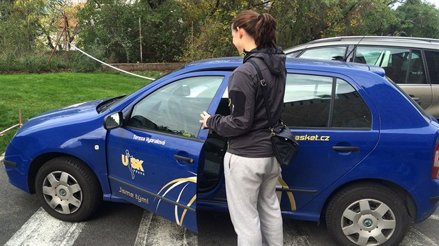
[{"label": "white painted stripe on asphalt under the blue car's front wheel", "polygon": [[39,208],[5,245],[73,245],[85,225],[56,220]]}]

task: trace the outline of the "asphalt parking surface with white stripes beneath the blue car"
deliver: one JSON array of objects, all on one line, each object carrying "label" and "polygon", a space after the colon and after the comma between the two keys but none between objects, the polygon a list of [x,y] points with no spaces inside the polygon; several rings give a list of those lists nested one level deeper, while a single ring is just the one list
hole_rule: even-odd
[{"label": "asphalt parking surface with white stripes beneath the blue car", "polygon": [[[199,211],[199,233],[133,204],[104,202],[93,218],[70,223],[49,216],[29,195],[8,183],[0,164],[0,245],[236,245],[228,213]],[[401,245],[439,246],[439,210],[413,224]],[[285,245],[337,245],[325,224],[284,220]]]}]

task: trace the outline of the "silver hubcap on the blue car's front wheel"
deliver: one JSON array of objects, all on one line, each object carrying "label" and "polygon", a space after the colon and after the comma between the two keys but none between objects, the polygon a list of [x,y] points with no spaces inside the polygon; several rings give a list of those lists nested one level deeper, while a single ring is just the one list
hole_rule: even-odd
[{"label": "silver hubcap on the blue car's front wheel", "polygon": [[62,214],[75,213],[82,204],[82,189],[67,172],[51,172],[43,181],[45,201],[54,211]]}]

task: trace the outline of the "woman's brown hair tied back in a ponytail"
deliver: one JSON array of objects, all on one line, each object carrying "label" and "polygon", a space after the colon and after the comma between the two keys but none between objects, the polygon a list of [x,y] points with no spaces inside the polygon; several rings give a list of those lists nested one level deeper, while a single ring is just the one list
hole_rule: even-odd
[{"label": "woman's brown hair tied back in a ponytail", "polygon": [[244,28],[254,38],[258,49],[276,47],[276,21],[270,14],[242,11],[232,22],[233,30],[237,27]]}]

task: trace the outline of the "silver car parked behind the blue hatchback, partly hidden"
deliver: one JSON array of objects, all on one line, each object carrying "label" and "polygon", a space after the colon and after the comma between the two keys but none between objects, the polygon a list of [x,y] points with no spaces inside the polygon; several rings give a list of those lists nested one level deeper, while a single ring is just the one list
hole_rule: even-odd
[{"label": "silver car parked behind the blue hatchback, partly hidden", "polygon": [[378,65],[428,113],[439,119],[439,40],[348,36],[286,49],[288,57]]}]

